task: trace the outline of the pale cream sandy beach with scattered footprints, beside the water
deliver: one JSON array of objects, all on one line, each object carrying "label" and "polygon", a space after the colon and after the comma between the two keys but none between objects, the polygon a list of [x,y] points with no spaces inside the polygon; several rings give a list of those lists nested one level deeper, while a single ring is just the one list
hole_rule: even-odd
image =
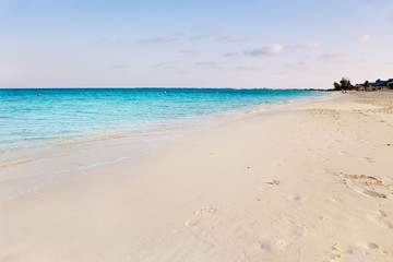
[{"label": "pale cream sandy beach with scattered footprints, beside the water", "polygon": [[393,92],[272,108],[1,203],[0,261],[393,261],[392,156]]}]

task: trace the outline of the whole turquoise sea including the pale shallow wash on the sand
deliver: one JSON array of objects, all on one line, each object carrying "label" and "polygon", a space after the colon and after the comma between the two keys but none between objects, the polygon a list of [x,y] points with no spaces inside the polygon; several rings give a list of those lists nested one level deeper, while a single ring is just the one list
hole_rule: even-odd
[{"label": "whole turquoise sea including the pale shallow wash on the sand", "polygon": [[296,90],[3,88],[0,182],[2,175],[17,172],[14,166],[29,164],[28,170],[41,177],[34,184],[39,188],[80,170],[141,157],[171,138],[324,95]]}]

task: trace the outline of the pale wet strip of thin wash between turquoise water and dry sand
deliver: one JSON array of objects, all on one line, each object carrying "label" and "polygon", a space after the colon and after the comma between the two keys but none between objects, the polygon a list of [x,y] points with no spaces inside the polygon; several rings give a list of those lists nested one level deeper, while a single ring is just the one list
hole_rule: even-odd
[{"label": "pale wet strip of thin wash between turquoise water and dry sand", "polygon": [[[105,134],[79,136],[78,140],[51,142],[43,145],[44,150],[39,148],[39,152],[35,154],[27,151],[27,154],[21,155],[21,157],[0,163],[0,182],[2,180],[14,180],[12,187],[9,186],[5,190],[0,190],[0,203],[29,193],[32,190],[39,190],[84,170],[136,160],[174,139],[189,136],[261,112],[270,114],[286,107],[332,99],[333,97],[334,94],[330,94],[258,106],[252,105],[215,115],[146,126],[144,130],[118,130]],[[14,174],[29,174],[31,170],[34,170],[34,176],[28,175],[25,178],[19,176],[19,179],[13,179]]]}]

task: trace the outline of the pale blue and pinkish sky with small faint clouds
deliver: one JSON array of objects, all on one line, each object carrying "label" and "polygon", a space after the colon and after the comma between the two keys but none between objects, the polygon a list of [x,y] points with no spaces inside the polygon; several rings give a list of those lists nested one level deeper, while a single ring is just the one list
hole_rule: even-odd
[{"label": "pale blue and pinkish sky with small faint clouds", "polygon": [[393,79],[393,0],[0,0],[0,88]]}]

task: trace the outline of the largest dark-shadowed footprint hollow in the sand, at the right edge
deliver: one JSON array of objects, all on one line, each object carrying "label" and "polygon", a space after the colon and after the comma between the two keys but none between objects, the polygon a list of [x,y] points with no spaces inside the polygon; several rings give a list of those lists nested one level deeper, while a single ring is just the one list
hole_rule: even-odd
[{"label": "largest dark-shadowed footprint hollow in the sand, at the right edge", "polygon": [[388,199],[393,194],[393,186],[385,184],[382,178],[344,172],[341,176],[345,177],[345,184],[357,193],[379,199]]}]

